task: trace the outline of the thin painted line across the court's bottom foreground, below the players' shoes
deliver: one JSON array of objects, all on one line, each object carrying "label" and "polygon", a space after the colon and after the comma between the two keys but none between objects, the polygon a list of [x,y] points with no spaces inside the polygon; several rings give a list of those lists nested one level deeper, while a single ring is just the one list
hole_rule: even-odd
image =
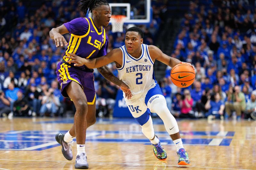
[{"label": "thin painted line across the court's bottom foreground, below the players' shoes", "polygon": [[[63,160],[27,160],[27,159],[0,159],[0,160],[15,160],[15,161],[38,161],[38,162],[69,162],[74,163],[71,161],[63,161]],[[88,163],[95,163],[95,164],[118,164],[118,165],[134,165],[134,163],[111,163],[111,162],[88,162]],[[163,165],[154,165],[154,164],[139,164],[136,165],[152,165],[152,166],[163,166]],[[172,166],[172,167],[185,167],[179,165],[165,165],[165,166]],[[188,165],[186,167],[193,167],[193,168],[212,168],[212,169],[234,169],[234,168],[216,168],[216,167],[208,167],[208,166],[191,166]],[[250,169],[234,169],[234,170],[250,170]]]}]

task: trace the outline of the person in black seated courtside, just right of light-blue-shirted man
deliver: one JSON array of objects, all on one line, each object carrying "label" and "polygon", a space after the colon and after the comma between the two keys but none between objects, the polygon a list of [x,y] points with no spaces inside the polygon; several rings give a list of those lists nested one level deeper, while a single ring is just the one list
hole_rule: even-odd
[{"label": "person in black seated courtside, just right of light-blue-shirted man", "polygon": [[29,104],[27,99],[23,97],[21,90],[17,92],[18,99],[14,102],[13,114],[14,116],[30,116],[28,115]]}]

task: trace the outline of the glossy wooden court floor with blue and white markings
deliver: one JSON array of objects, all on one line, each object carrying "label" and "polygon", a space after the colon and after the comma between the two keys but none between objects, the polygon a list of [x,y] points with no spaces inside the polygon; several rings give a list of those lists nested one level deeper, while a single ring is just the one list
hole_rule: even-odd
[{"label": "glossy wooden court floor with blue and white markings", "polygon": [[[0,118],[0,169],[74,169],[75,156],[66,160],[55,141],[72,118]],[[163,123],[154,129],[167,160],[153,155],[152,145],[134,119],[104,119],[88,128],[89,169],[178,169],[178,157]],[[186,169],[256,169],[256,121],[178,120],[181,138],[191,161]],[[76,154],[76,143],[73,147]]]}]

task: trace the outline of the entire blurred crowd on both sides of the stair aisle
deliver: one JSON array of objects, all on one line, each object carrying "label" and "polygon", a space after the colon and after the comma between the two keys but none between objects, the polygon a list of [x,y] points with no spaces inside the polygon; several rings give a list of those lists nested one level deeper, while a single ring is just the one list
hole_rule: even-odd
[{"label": "entire blurred crowd on both sides of the stair aisle", "polygon": [[[145,12],[142,1],[133,6],[138,13]],[[65,48],[56,48],[49,31],[84,17],[77,2],[0,0],[1,116],[75,113],[73,102],[61,96],[56,81],[56,63]],[[152,22],[138,25],[144,31],[145,44],[156,41],[168,3],[152,0]],[[124,33],[112,33],[111,26],[105,29],[108,51],[124,45]],[[69,34],[64,36],[69,39]],[[192,63],[196,81],[189,88],[177,88],[170,79],[171,68],[167,67],[159,84],[172,114],[182,118],[255,118],[256,1],[191,1],[176,36],[170,55]],[[108,67],[118,76],[114,64]],[[119,87],[106,81],[97,69],[94,78],[97,114],[108,117]]]}]

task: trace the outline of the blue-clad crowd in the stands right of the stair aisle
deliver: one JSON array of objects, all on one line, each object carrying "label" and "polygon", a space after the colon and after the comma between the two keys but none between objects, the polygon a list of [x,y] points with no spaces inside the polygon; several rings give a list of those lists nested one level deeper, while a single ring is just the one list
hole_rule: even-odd
[{"label": "blue-clad crowd in the stands right of the stair aisle", "polygon": [[256,119],[255,5],[238,0],[190,2],[172,57],[194,65],[196,80],[185,90],[177,88],[169,80],[168,67],[161,82],[174,116],[223,119],[234,114],[237,119]]}]

